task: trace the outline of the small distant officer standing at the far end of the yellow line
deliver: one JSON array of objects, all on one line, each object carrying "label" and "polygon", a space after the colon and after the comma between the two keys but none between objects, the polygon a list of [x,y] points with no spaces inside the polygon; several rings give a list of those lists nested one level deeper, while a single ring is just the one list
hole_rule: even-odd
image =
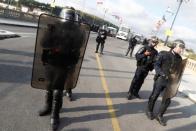
[{"label": "small distant officer standing at the far end of the yellow line", "polygon": [[106,26],[103,25],[101,29],[99,29],[98,31],[98,35],[96,38],[97,45],[96,45],[95,53],[98,53],[99,46],[101,44],[100,54],[103,54],[103,48],[104,48],[106,38],[107,38]]}]

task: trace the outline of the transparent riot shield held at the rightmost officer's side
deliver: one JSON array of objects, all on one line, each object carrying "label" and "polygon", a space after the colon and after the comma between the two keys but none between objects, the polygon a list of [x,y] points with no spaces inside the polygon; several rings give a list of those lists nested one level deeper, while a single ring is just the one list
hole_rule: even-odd
[{"label": "transparent riot shield held at the rightmost officer's side", "polygon": [[182,63],[179,65],[179,70],[176,73],[171,74],[171,78],[170,78],[168,87],[165,89],[165,92],[163,94],[164,100],[166,100],[167,98],[172,98],[172,97],[176,96],[176,94],[178,92],[178,88],[180,86],[183,72],[185,70],[187,60],[188,59],[182,60]]}]

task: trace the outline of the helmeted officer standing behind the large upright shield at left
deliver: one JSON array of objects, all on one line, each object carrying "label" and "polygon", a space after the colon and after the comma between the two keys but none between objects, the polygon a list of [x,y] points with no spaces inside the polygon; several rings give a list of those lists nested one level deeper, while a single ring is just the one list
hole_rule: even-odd
[{"label": "helmeted officer standing behind the large upright shield at left", "polygon": [[59,126],[59,112],[63,103],[63,90],[70,70],[75,68],[80,56],[83,36],[77,23],[74,8],[63,9],[62,22],[49,24],[48,36],[43,40],[42,62],[45,67],[46,87],[45,106],[40,116],[51,114],[51,127]]}]

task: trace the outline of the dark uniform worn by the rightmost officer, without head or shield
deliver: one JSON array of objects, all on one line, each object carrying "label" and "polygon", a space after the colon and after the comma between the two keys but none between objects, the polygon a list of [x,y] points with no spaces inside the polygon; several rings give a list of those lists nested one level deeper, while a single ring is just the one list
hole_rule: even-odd
[{"label": "dark uniform worn by the rightmost officer, without head or shield", "polygon": [[[152,119],[152,113],[154,104],[160,95],[160,93],[168,87],[171,82],[171,75],[178,70],[178,66],[181,64],[182,58],[179,54],[174,53],[173,51],[161,51],[155,62],[155,71],[156,75],[154,77],[154,87],[152,94],[149,97],[148,107],[147,107],[147,115]],[[163,99],[162,104],[160,106],[160,110],[158,113],[158,121],[162,125],[166,125],[163,122],[162,117],[167,107],[169,106],[171,98]]]}]

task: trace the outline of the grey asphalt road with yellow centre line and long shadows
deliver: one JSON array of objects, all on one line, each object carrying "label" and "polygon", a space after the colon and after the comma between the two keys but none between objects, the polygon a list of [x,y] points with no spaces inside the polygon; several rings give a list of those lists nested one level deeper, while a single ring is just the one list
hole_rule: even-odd
[{"label": "grey asphalt road with yellow centre line and long shadows", "polygon": [[[0,131],[48,131],[49,116],[39,117],[44,91],[31,88],[31,70],[36,29],[0,26],[20,34],[0,41]],[[128,43],[108,37],[104,55],[95,54],[91,33],[74,101],[64,97],[61,110],[62,131],[196,131],[196,105],[178,94],[165,115],[162,127],[148,120],[145,108],[152,91],[153,73],[140,91],[142,99],[126,99],[135,72],[135,59],[125,57]],[[158,111],[161,99],[155,107]]]}]

